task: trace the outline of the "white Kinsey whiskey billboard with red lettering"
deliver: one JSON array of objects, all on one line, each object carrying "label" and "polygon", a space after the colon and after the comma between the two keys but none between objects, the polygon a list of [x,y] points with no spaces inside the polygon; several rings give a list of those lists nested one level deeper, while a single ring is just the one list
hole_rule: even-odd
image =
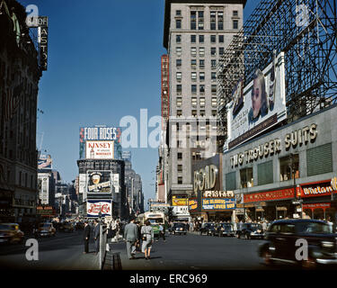
[{"label": "white Kinsey whiskey billboard with red lettering", "polygon": [[87,159],[113,159],[114,141],[86,141],[85,158]]}]

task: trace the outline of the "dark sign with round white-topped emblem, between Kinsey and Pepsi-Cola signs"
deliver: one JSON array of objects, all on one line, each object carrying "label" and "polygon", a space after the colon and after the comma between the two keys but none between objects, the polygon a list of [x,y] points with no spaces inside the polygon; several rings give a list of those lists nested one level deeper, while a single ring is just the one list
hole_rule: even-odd
[{"label": "dark sign with round white-topped emblem, between Kinsey and Pepsi-Cola signs", "polygon": [[111,193],[111,171],[88,171],[88,193]]}]

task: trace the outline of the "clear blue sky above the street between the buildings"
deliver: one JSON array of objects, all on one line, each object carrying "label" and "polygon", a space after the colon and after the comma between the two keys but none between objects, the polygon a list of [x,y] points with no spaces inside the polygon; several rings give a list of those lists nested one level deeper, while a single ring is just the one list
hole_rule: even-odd
[{"label": "clear blue sky above the street between the buildings", "polygon": [[[19,0],[49,16],[48,71],[40,79],[37,145],[64,181],[78,174],[79,127],[160,115],[164,0]],[[247,19],[258,1],[248,0]],[[138,125],[139,130],[139,125]],[[149,130],[150,132],[151,130]],[[43,134],[43,141],[42,139]],[[155,148],[131,148],[145,200],[155,197]]]}]

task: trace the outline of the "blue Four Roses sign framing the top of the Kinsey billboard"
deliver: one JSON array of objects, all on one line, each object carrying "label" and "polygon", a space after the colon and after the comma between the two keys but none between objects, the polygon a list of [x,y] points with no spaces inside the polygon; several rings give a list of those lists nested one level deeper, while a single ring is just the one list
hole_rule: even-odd
[{"label": "blue Four Roses sign framing the top of the Kinsey billboard", "polygon": [[80,159],[87,155],[86,141],[114,141],[114,146],[119,147],[121,130],[118,127],[107,127],[105,125],[94,127],[80,127]]}]

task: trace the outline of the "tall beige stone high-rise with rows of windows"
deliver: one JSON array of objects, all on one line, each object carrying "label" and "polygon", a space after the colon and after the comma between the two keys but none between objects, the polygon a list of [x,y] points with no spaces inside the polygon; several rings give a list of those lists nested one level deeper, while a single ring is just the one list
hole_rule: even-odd
[{"label": "tall beige stone high-rise with rows of windows", "polygon": [[[243,26],[246,0],[166,0],[170,115],[168,202],[193,190],[191,166],[217,153],[217,63]],[[165,162],[165,161],[164,161]]]}]

